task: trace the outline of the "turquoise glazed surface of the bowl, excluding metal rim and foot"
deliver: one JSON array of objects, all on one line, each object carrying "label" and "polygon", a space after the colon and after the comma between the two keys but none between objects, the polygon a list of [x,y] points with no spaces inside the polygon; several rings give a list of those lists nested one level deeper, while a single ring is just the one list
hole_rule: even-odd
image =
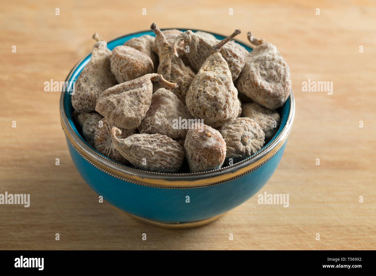
[{"label": "turquoise glazed surface of the bowl, excluding metal rim and foot", "polygon": [[[109,42],[108,47],[112,49],[117,45],[123,45],[125,41],[132,37],[144,34],[154,35],[152,31],[135,33]],[[218,39],[224,38],[219,35],[216,35],[216,37]],[[246,45],[243,46],[246,47],[247,50],[251,50]],[[76,69],[71,72],[70,81],[77,79],[77,76],[89,59],[90,56],[83,59]],[[63,103],[65,114],[73,131],[80,139],[84,140],[73,120],[73,107],[70,98],[71,95],[65,93]],[[277,137],[287,124],[291,104],[290,101],[291,97],[286,101],[284,106],[279,109],[281,124],[274,138]],[[208,219],[225,213],[247,201],[255,195],[271,177],[282,157],[286,145],[286,143],[284,143],[282,148],[265,164],[232,181],[208,187],[165,189],[142,186],[115,178],[86,161],[71,145],[68,139],[67,144],[77,170],[86,183],[98,195],[103,196],[106,201],[127,213],[162,222],[193,222]],[[190,196],[190,203],[185,202],[186,196]],[[253,200],[255,204],[257,204],[257,199],[254,198]]]}]

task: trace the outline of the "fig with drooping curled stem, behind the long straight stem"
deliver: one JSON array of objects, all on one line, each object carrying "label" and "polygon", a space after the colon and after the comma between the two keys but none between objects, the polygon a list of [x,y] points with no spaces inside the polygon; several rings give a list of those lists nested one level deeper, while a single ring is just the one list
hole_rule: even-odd
[{"label": "fig with drooping curled stem, behind the long straight stem", "polygon": [[[192,68],[195,71],[199,71],[205,60],[211,54],[212,48],[219,40],[208,36],[202,36],[200,33],[194,33],[191,30],[188,30],[175,38],[172,45],[173,50],[177,43],[180,44],[181,41],[184,41],[183,47],[189,49],[186,56],[188,57]],[[240,44],[230,41],[226,45],[223,45],[220,53],[229,66],[232,80],[236,80],[246,63],[246,49]],[[178,55],[179,53],[175,54]]]}]

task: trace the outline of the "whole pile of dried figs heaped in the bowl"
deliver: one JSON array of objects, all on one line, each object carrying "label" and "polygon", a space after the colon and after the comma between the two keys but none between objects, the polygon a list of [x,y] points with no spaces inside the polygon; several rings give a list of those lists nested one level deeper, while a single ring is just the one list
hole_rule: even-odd
[{"label": "whole pile of dried figs heaped in the bowl", "polygon": [[98,38],[75,83],[74,118],[86,142],[121,164],[160,173],[219,169],[258,152],[277,132],[290,69],[273,44],[176,29]]}]

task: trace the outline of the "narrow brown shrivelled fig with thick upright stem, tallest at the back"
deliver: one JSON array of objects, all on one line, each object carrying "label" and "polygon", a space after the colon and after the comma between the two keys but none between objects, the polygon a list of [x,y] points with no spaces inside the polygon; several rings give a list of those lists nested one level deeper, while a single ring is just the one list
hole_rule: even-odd
[{"label": "narrow brown shrivelled fig with thick upright stem, tallest at the back", "polygon": [[180,57],[173,56],[171,45],[155,22],[150,26],[150,29],[155,33],[158,41],[162,42],[159,50],[158,74],[163,75],[168,81],[179,84],[179,87],[174,90],[174,93],[185,104],[186,92],[193,78],[196,76],[196,73],[190,66],[185,65]]}]

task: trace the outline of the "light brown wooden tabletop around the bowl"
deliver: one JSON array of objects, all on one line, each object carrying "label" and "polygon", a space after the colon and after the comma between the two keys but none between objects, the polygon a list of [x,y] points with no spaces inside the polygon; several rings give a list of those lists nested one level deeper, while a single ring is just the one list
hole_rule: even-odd
[{"label": "light brown wooden tabletop around the bowl", "polygon": [[[0,249],[375,249],[376,3],[170,3],[2,3],[0,193],[31,199],[29,208],[0,205]],[[254,196],[209,225],[177,231],[98,203],[68,153],[60,94],[44,92],[44,81],[63,81],[91,50],[94,32],[111,39],[153,21],[223,34],[242,29],[244,42],[252,30],[277,46],[291,69],[296,118],[260,193],[289,194],[288,208],[259,205]],[[333,81],[333,94],[303,92],[308,79]]]}]

